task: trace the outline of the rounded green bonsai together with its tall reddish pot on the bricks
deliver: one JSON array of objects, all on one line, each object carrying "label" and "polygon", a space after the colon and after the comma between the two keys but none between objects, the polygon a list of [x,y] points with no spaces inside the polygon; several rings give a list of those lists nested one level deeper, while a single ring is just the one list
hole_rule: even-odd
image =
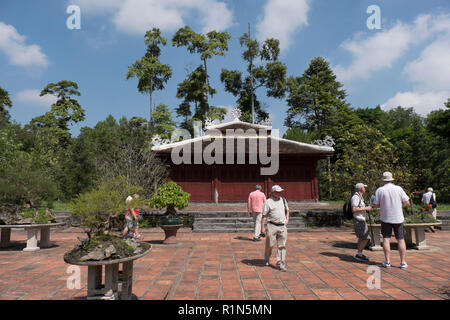
[{"label": "rounded green bonsai together with its tall reddish pot on the bricks", "polygon": [[156,190],[150,199],[149,205],[151,207],[160,210],[166,208],[166,212],[161,218],[161,228],[166,235],[164,243],[176,243],[177,231],[182,226],[176,209],[182,210],[186,208],[189,204],[190,196],[175,182],[166,182]]}]

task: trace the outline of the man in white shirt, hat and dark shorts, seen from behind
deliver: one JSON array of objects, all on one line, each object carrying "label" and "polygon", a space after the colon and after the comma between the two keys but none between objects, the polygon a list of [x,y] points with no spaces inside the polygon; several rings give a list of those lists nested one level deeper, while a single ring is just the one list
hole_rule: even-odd
[{"label": "man in white shirt, hat and dark shorts, seen from behind", "polygon": [[396,186],[392,181],[392,173],[384,172],[381,180],[384,186],[375,192],[374,207],[380,208],[381,234],[383,236],[383,251],[385,261],[383,267],[389,268],[391,253],[391,235],[394,230],[395,238],[398,242],[398,252],[400,254],[400,268],[406,269],[406,243],[405,243],[405,218],[403,216],[403,206],[409,206],[409,197],[405,191]]}]

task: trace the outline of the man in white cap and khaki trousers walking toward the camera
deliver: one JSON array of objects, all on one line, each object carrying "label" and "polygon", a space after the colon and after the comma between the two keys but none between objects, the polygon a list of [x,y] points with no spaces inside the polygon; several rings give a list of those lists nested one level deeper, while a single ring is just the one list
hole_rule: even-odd
[{"label": "man in white cap and khaki trousers walking toward the camera", "polygon": [[264,203],[261,230],[267,220],[266,249],[264,257],[266,266],[270,265],[272,247],[277,245],[277,266],[286,271],[286,240],[289,222],[289,207],[286,199],[281,197],[283,189],[279,185],[272,187],[272,197]]}]

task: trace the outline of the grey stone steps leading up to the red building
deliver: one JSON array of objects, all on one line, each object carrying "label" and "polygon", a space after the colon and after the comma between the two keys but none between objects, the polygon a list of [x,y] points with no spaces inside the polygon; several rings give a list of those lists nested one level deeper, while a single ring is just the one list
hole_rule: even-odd
[{"label": "grey stone steps leading up to the red building", "polygon": [[[254,232],[253,218],[247,212],[196,212],[192,232]],[[288,232],[306,231],[304,215],[291,212]]]}]

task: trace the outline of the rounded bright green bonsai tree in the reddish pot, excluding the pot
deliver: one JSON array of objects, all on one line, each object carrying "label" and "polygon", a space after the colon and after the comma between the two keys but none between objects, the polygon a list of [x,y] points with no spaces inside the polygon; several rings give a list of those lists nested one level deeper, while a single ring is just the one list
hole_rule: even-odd
[{"label": "rounded bright green bonsai tree in the reddish pot, excluding the pot", "polygon": [[182,210],[189,205],[190,197],[191,195],[175,182],[166,182],[156,190],[149,205],[158,209],[167,208],[165,215],[172,217],[176,215],[176,209]]}]

